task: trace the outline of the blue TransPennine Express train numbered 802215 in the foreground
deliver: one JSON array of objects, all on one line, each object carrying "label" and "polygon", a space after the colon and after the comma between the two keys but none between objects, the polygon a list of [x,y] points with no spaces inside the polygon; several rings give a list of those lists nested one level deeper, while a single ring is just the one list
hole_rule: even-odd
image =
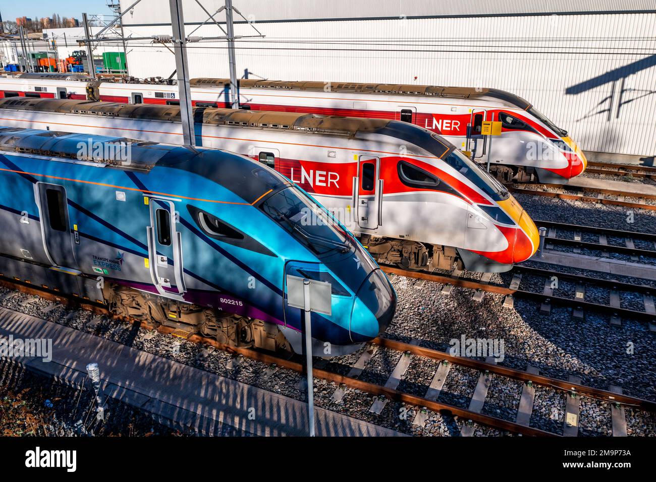
[{"label": "blue TransPennine Express train numbered 802215 in the foreground", "polygon": [[0,273],[219,342],[301,351],[286,275],[331,283],[313,351],[388,326],[394,289],[351,233],[253,159],[209,148],[0,127]]}]

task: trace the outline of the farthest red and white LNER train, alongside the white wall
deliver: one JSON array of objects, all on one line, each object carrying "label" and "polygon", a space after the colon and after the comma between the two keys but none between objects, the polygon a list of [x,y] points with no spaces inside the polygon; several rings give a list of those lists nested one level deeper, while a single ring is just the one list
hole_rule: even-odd
[{"label": "farthest red and white LNER train, alongside the white wall", "polygon": [[[192,79],[192,103],[230,107],[227,79]],[[53,79],[52,74],[1,78],[0,96],[30,96],[178,104],[178,87],[157,83],[110,83]],[[567,132],[519,96],[497,89],[428,85],[287,82],[241,79],[241,108],[400,120],[439,133],[497,178],[561,184],[586,168],[583,152]],[[502,134],[489,142],[483,121],[501,121]]]}]

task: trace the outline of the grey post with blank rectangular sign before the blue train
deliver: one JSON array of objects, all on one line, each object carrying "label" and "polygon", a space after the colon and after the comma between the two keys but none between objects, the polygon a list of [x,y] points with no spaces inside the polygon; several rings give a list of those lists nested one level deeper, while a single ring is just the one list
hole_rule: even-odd
[{"label": "grey post with blank rectangular sign before the blue train", "polygon": [[305,353],[308,370],[308,424],[314,437],[314,386],[312,380],[312,327],[310,312],[331,315],[331,284],[287,275],[287,304],[305,313]]}]

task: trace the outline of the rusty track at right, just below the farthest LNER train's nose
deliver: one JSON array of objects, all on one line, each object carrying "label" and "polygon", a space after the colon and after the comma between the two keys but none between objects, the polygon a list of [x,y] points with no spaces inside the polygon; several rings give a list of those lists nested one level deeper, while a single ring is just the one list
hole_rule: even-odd
[{"label": "rusty track at right, just below the farthest LNER train's nose", "polygon": [[[515,194],[556,197],[568,201],[599,203],[609,206],[623,206],[632,209],[656,211],[656,195],[653,194],[612,189],[580,188],[577,186],[568,186],[567,184],[511,184],[506,187],[510,192]],[[551,188],[552,190],[545,191],[545,187]],[[638,201],[632,201],[632,199],[637,199]]]}]

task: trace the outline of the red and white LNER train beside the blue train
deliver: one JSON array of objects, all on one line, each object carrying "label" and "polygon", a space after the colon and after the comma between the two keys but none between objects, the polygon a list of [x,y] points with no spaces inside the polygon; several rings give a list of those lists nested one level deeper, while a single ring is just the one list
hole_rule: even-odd
[{"label": "red and white LNER train beside the blue train", "polygon": [[[194,117],[197,145],[274,167],[358,233],[379,262],[506,271],[537,249],[537,228],[512,195],[416,125],[202,107]],[[0,100],[0,126],[183,142],[178,106],[9,98]]]}]

